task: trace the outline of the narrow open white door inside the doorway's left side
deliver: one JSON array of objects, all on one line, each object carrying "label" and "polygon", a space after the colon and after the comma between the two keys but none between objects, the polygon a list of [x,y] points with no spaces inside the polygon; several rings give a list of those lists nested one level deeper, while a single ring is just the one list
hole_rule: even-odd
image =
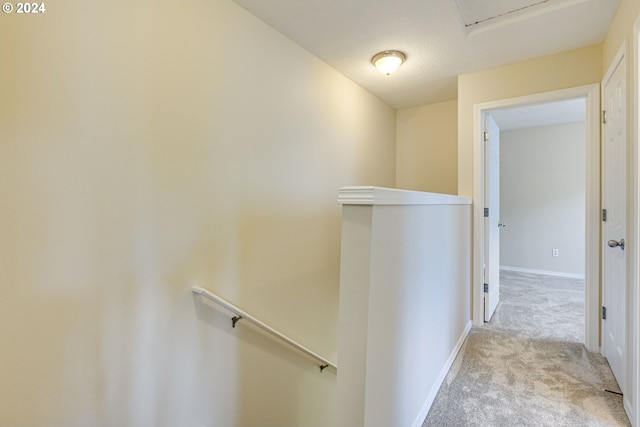
[{"label": "narrow open white door inside the doorway's left side", "polygon": [[488,322],[500,301],[500,128],[490,114],[484,132],[484,321]]}]

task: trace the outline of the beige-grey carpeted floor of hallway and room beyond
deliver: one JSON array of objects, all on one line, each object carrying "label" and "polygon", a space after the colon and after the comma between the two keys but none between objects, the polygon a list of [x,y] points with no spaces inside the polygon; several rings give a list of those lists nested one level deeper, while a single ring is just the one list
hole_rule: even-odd
[{"label": "beige-grey carpeted floor of hallway and room beyond", "polygon": [[584,281],[502,271],[500,287],[423,427],[629,426],[606,359],[583,345]]}]

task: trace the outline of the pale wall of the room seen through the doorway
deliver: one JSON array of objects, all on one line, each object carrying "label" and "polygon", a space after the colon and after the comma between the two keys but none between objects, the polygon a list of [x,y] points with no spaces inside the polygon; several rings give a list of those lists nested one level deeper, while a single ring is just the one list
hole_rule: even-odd
[{"label": "pale wall of the room seen through the doorway", "polygon": [[500,140],[500,265],[584,276],[585,123],[506,131]]}]

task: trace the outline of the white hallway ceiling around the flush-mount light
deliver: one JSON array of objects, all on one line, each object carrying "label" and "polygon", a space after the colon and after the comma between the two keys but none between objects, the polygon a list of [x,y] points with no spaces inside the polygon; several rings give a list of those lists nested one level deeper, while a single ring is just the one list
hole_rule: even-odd
[{"label": "white hallway ceiling around the flush-mount light", "polygon": [[[457,76],[601,43],[620,0],[234,0],[394,108],[457,97]],[[371,57],[397,49],[384,76]]]}]

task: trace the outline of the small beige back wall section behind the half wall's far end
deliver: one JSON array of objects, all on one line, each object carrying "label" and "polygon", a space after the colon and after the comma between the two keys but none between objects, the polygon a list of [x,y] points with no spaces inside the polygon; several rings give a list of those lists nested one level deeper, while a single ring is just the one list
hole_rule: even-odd
[{"label": "small beige back wall section behind the half wall's far end", "polygon": [[433,193],[458,193],[458,101],[399,110],[396,185]]}]

